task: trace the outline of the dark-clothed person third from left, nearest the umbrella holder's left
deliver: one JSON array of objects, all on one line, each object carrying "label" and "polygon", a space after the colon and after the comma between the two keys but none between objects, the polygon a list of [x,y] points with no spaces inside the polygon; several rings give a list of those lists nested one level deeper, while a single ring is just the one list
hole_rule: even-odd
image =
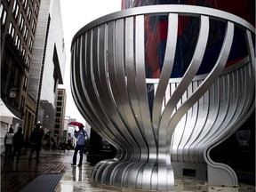
[{"label": "dark-clothed person third from left, nearest the umbrella holder's left", "polygon": [[34,151],[36,151],[36,164],[39,163],[39,153],[42,146],[42,139],[44,136],[44,131],[40,129],[40,124],[36,124],[35,129],[30,134],[29,144],[30,144],[30,154],[28,157],[28,163],[31,163]]}]

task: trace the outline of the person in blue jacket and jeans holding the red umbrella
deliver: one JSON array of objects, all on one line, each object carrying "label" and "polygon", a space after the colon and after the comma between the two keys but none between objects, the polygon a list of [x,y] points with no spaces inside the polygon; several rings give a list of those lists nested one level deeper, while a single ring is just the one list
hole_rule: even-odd
[{"label": "person in blue jacket and jeans holding the red umbrella", "polygon": [[84,145],[85,145],[85,136],[88,137],[88,135],[87,135],[87,132],[84,131],[84,128],[82,126],[79,126],[79,131],[78,132],[75,131],[74,134],[76,137],[76,148],[75,148],[75,152],[73,155],[73,164],[71,164],[71,165],[76,166],[76,156],[77,156],[77,152],[79,150],[80,159],[79,159],[79,164],[77,164],[77,166],[82,166]]}]

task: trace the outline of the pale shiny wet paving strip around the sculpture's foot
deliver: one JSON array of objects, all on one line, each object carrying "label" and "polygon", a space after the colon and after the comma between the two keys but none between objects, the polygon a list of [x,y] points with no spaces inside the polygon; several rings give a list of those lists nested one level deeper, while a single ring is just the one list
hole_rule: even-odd
[{"label": "pale shiny wet paving strip around the sculpture's foot", "polygon": [[[60,183],[55,190],[56,192],[132,192],[147,191],[132,188],[118,188],[112,186],[101,185],[91,180],[92,166],[84,163],[82,167],[70,166],[62,176]],[[151,190],[152,191],[152,190]],[[175,192],[254,192],[255,188],[249,185],[241,185],[240,187],[221,187],[210,186],[201,180],[179,179],[175,178]]]}]

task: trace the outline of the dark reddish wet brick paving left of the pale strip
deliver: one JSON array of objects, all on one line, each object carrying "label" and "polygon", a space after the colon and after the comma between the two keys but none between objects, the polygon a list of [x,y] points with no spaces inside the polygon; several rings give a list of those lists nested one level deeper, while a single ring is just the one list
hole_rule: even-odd
[{"label": "dark reddish wet brick paving left of the pale strip", "polygon": [[[62,176],[70,166],[73,151],[61,153],[41,150],[39,164],[36,164],[36,159],[32,159],[32,163],[28,164],[28,154],[29,150],[26,156],[20,156],[19,164],[15,164],[15,159],[13,163],[4,164],[4,156],[1,156],[1,192],[18,192],[39,175]],[[34,156],[36,156],[35,153]]]}]

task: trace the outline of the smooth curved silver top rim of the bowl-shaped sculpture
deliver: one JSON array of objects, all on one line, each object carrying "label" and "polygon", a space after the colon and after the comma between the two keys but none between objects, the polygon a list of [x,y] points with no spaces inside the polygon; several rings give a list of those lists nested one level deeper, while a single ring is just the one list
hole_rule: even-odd
[{"label": "smooth curved silver top rim of the bowl-shaped sculpture", "polygon": [[247,20],[236,16],[230,12],[224,12],[221,10],[213,9],[210,7],[198,6],[198,5],[186,5],[186,4],[157,4],[157,5],[147,5],[140,7],[133,7],[125,10],[121,10],[118,12],[112,12],[107,15],[104,15],[96,20],[92,20],[88,24],[84,25],[84,27],[80,28],[71,42],[71,50],[76,39],[83,35],[84,32],[100,25],[101,23],[105,23],[111,20],[118,20],[122,18],[132,17],[140,14],[169,14],[169,13],[181,13],[184,15],[207,15],[212,18],[219,18],[219,20],[230,20],[234,23],[237,23],[241,27],[248,28],[252,33],[255,33],[255,28],[249,23]]}]

